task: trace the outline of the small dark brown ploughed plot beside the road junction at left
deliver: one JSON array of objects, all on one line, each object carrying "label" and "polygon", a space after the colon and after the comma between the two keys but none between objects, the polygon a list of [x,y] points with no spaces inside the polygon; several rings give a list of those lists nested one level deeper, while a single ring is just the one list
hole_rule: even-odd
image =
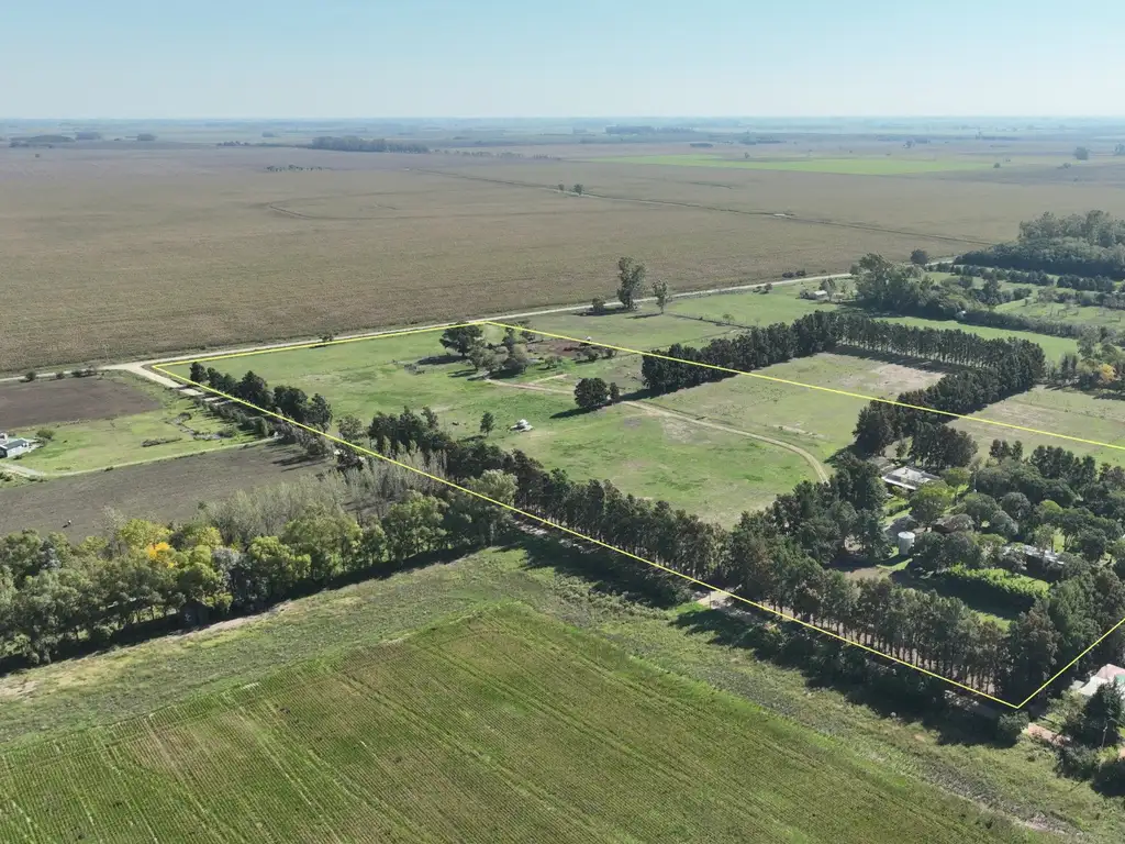
[{"label": "small dark brown ploughed plot beside the road junction at left", "polygon": [[153,396],[117,378],[6,381],[0,384],[0,431],[116,419],[160,406]]}]

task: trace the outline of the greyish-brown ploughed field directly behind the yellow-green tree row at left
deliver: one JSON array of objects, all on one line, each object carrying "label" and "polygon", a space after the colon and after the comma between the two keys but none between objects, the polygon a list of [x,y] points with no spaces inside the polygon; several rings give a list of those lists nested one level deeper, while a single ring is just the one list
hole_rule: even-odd
[{"label": "greyish-brown ploughed field directly behind the yellow-green tree row at left", "polygon": [[[106,529],[110,510],[130,519],[186,521],[201,501],[324,472],[326,466],[308,463],[291,448],[248,446],[24,483],[0,488],[0,535],[30,528],[82,539]],[[68,521],[73,523],[64,529]]]}]

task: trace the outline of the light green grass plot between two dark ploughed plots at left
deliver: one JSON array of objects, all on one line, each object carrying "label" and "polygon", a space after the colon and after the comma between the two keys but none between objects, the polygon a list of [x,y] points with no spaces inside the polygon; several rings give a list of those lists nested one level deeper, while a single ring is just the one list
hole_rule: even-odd
[{"label": "light green grass plot between two dark ploughed plots at left", "polygon": [[[178,398],[161,387],[151,388],[151,392],[159,396],[163,407],[117,419],[45,425],[54,431],[54,438],[20,457],[19,465],[46,473],[90,472],[142,460],[181,457],[252,440],[230,423],[196,407],[190,399]],[[190,414],[190,419],[183,419],[183,414]],[[177,425],[177,420],[200,433],[230,431],[233,436],[197,440]],[[34,437],[37,430],[40,429],[24,431],[22,434]],[[174,442],[143,446],[145,440],[173,437],[178,438]]]}]

